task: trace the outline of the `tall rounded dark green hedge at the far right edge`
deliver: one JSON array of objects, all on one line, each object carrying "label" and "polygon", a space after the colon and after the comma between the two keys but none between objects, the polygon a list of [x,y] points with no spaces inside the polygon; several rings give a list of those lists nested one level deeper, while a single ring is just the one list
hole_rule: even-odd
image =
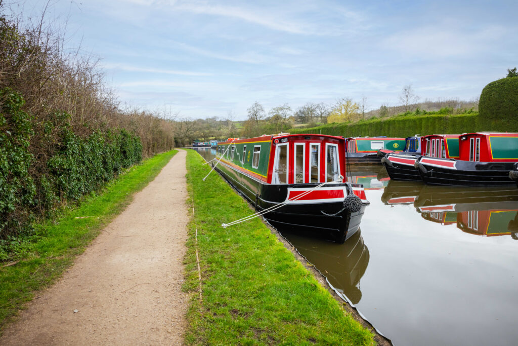
[{"label": "tall rounded dark green hedge at the far right edge", "polygon": [[482,89],[479,102],[480,117],[502,121],[510,126],[518,121],[518,77],[502,78]]}]

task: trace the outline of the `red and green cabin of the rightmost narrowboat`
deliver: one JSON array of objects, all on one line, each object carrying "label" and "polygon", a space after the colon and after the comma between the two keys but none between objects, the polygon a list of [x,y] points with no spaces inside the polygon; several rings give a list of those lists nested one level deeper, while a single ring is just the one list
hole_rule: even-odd
[{"label": "red and green cabin of the rightmost narrowboat", "polygon": [[460,160],[481,162],[518,161],[518,133],[477,132],[459,137]]}]

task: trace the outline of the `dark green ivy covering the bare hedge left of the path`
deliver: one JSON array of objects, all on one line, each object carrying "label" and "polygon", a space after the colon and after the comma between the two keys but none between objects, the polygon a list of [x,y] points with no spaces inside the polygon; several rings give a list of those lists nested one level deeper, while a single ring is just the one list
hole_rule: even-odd
[{"label": "dark green ivy covering the bare hedge left of the path", "polygon": [[71,129],[70,115],[54,110],[39,122],[24,103],[17,92],[0,90],[0,261],[16,259],[21,238],[36,235],[35,220],[142,159],[139,138],[126,130],[82,137]]}]

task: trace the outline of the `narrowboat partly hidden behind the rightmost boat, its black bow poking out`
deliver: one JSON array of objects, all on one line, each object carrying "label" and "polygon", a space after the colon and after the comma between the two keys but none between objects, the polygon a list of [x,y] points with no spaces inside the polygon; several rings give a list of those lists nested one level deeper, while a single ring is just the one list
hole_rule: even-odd
[{"label": "narrowboat partly hidden behind the rightmost boat, its black bow poking out", "polygon": [[[422,136],[421,152],[389,153],[381,159],[393,180],[420,181],[415,163],[420,157],[458,158],[458,134],[430,134]],[[424,150],[424,151],[423,151]]]}]

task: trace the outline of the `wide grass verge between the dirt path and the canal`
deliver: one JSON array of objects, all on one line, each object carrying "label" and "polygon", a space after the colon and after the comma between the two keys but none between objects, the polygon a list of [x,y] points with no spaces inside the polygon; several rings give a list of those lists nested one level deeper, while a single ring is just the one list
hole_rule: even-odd
[{"label": "wide grass verge between the dirt path and the canal", "polygon": [[[188,189],[194,216],[185,257],[184,289],[192,293],[189,344],[372,344],[373,336],[259,219],[226,229],[253,213],[210,167],[188,150]],[[202,269],[198,295],[195,229]]]}]

